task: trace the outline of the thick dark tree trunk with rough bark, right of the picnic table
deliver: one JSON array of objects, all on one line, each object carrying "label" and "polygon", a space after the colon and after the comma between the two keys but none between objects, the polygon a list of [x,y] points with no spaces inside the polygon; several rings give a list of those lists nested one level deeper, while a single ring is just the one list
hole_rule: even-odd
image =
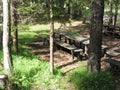
[{"label": "thick dark tree trunk with rough bark, right of the picnic table", "polygon": [[101,45],[102,45],[102,26],[104,0],[91,0],[92,17],[90,30],[90,46],[88,58],[88,72],[100,71]]}]

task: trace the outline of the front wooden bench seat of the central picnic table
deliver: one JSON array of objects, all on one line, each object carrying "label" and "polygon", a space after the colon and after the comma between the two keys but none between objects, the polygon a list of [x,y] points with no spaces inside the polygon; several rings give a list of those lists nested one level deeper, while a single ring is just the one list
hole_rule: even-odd
[{"label": "front wooden bench seat of the central picnic table", "polygon": [[56,41],[55,45],[56,45],[56,47],[60,46],[62,48],[70,50],[72,60],[74,59],[75,53],[77,53],[78,54],[77,57],[79,57],[81,59],[80,53],[83,52],[83,50],[81,48],[77,48],[74,45],[70,45],[70,44],[64,43],[62,41]]}]

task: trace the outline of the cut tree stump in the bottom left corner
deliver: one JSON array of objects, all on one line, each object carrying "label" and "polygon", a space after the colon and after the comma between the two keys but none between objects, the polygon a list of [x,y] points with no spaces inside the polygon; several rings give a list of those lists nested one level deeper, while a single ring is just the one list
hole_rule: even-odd
[{"label": "cut tree stump in the bottom left corner", "polygon": [[8,76],[5,74],[0,75],[0,90],[7,88]]}]

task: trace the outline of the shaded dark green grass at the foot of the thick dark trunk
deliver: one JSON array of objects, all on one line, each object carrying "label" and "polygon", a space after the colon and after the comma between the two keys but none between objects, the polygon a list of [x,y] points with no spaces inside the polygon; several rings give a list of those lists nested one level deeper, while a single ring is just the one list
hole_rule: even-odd
[{"label": "shaded dark green grass at the foot of the thick dark trunk", "polygon": [[77,90],[115,90],[115,82],[107,71],[87,73],[85,69],[78,69],[69,81],[76,85]]}]

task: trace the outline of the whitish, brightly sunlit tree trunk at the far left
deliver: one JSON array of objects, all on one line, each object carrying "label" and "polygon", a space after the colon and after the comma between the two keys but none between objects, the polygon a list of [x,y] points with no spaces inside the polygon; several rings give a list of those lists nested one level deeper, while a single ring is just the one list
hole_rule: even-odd
[{"label": "whitish, brightly sunlit tree trunk at the far left", "polygon": [[4,69],[6,73],[12,70],[12,57],[10,51],[10,7],[9,0],[3,0],[3,54],[4,54]]}]

